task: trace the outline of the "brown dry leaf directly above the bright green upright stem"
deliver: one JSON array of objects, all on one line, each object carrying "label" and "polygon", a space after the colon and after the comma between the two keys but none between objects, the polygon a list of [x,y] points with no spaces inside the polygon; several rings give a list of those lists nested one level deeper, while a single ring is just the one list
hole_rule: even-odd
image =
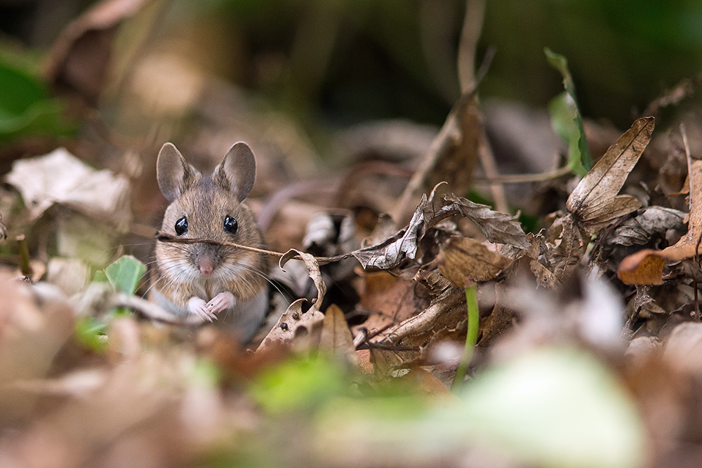
[{"label": "brown dry leaf directly above the bright green upright stem", "polygon": [[465,287],[467,280],[489,281],[512,265],[512,260],[482,243],[465,237],[452,237],[439,254],[439,272],[454,286]]}]

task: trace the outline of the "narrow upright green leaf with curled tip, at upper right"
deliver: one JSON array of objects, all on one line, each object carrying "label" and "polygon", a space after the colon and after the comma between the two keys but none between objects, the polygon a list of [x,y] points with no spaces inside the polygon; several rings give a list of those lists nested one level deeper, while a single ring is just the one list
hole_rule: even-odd
[{"label": "narrow upright green leaf with curled tip, at upper right", "polygon": [[588,140],[585,139],[583,116],[576,99],[575,84],[568,69],[568,61],[563,55],[544,48],[546,58],[552,67],[563,75],[565,91],[553,98],[548,109],[551,113],[553,130],[568,145],[568,166],[581,177],[592,168],[592,158]]}]

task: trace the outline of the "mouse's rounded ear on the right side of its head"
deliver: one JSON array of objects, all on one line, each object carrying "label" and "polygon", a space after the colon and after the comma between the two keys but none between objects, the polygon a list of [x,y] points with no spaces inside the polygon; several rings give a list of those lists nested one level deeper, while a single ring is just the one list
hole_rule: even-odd
[{"label": "mouse's rounded ear on the right side of its head", "polygon": [[242,141],[234,143],[215,168],[213,177],[222,187],[231,190],[238,201],[249,196],[256,182],[256,159],[249,145]]}]

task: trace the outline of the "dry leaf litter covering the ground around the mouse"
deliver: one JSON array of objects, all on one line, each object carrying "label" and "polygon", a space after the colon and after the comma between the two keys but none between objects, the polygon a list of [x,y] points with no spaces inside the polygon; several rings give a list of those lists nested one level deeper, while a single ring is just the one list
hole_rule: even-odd
[{"label": "dry leaf litter covering the ground around the mouse", "polygon": [[[100,2],[62,34],[51,79],[72,84],[73,98],[97,102],[110,53],[79,46],[91,32],[109,43],[144,8]],[[95,53],[98,73],[76,81],[72,64]],[[689,194],[685,212],[671,189],[684,177],[677,137],[654,133],[654,119],[642,117],[586,171],[585,131],[607,131],[583,121],[567,61],[547,55],[566,88],[551,105],[552,121],[580,177],[548,182],[569,194],[557,201],[561,210],[536,208],[538,227],[525,229],[518,214],[465,196],[484,163],[479,153],[489,152],[477,90],[468,90],[413,161],[409,184],[388,182],[382,195],[367,190],[355,201],[365,206],[323,199],[314,181],[287,181],[286,196],[254,192],[258,213],[263,196],[277,200],[266,225],[277,214],[298,217],[286,218],[295,224],[286,232],[267,229],[269,245],[290,250],[265,251],[279,256],[267,272],[272,312],[248,344],[143,299],[150,257],[122,234],[127,226],[127,236],[148,231],[130,225],[134,219],[158,224],[144,215],[147,197],[127,196],[153,183],[148,171],[95,171],[81,161],[94,159],[65,149],[15,161],[0,192],[9,239],[1,246],[0,459],[27,467],[583,468],[686,459],[702,443],[702,166],[683,134],[689,175],[687,189],[677,190]],[[138,66],[127,74],[145,73]],[[211,103],[228,102],[221,85],[207,76],[197,82],[209,83]],[[270,123],[242,112],[241,121]],[[241,121],[194,118],[185,139],[228,142]],[[288,123],[291,140],[282,147],[313,153]],[[108,130],[114,137],[124,128]],[[120,147],[121,163],[131,161],[128,150]],[[110,151],[105,143],[102,155]],[[640,164],[651,152],[658,153],[648,159],[665,160],[658,173]],[[272,168],[295,166],[275,159],[285,153],[267,154],[262,178],[279,180]],[[138,157],[154,156],[144,149]],[[304,209],[290,187],[311,192]],[[44,266],[44,281],[20,275],[30,262]],[[468,316],[467,288],[477,317]],[[477,343],[466,353],[473,319]],[[451,387],[462,364],[468,375]]]}]

